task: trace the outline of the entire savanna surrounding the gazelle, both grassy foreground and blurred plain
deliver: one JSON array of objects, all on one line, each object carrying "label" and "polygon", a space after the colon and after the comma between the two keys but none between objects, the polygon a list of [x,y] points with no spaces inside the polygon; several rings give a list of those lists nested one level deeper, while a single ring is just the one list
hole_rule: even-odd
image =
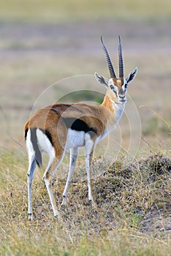
[{"label": "entire savanna surrounding the gazelle, both grassy foreground and blurred plain", "polygon": [[[171,255],[170,1],[1,1],[0,255]],[[69,157],[53,178],[61,220],[53,217],[42,175],[27,220],[28,159],[23,127],[54,102],[99,104],[108,78],[100,36],[118,74],[138,67],[120,123],[93,159],[96,208],[88,203],[80,150],[61,207]]]}]

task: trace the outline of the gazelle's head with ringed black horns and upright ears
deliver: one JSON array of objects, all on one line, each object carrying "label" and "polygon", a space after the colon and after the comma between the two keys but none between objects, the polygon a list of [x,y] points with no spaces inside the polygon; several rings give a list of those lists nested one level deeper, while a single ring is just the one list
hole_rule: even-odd
[{"label": "gazelle's head with ringed black horns and upright ears", "polygon": [[109,53],[107,48],[104,45],[103,39],[101,37],[102,49],[107,60],[108,69],[110,71],[110,79],[102,77],[95,73],[95,78],[99,83],[102,83],[107,87],[110,95],[114,98],[114,101],[117,102],[126,102],[126,91],[129,82],[131,82],[135,75],[137,74],[137,67],[126,77],[123,77],[123,54],[122,54],[122,45],[121,38],[118,36],[118,62],[119,62],[119,78],[116,78],[115,71],[113,69],[112,61],[110,60]]}]

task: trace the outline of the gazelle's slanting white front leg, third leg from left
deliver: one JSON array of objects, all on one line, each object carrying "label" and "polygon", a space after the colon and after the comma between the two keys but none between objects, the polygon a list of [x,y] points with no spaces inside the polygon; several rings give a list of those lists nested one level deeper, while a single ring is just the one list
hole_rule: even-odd
[{"label": "gazelle's slanting white front leg, third leg from left", "polygon": [[67,180],[66,180],[66,185],[65,185],[65,188],[64,188],[63,200],[62,200],[61,206],[66,206],[67,205],[67,191],[68,191],[69,184],[71,182],[72,174],[75,170],[75,165],[76,165],[76,160],[77,160],[77,151],[78,151],[78,148],[71,148],[70,149],[69,173],[68,173],[68,177],[67,177]]}]

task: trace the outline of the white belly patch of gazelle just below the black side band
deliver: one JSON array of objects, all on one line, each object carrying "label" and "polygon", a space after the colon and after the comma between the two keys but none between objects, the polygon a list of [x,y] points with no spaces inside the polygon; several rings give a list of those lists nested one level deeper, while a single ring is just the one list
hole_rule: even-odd
[{"label": "white belly patch of gazelle just below the black side band", "polygon": [[68,129],[67,139],[66,139],[66,150],[74,147],[85,146],[85,132],[75,131],[73,129]]}]

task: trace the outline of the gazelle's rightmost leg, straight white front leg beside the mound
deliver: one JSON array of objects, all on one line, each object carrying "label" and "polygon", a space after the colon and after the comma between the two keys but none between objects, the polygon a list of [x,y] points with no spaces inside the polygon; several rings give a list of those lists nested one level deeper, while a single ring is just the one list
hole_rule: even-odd
[{"label": "gazelle's rightmost leg, straight white front leg beside the mound", "polygon": [[94,141],[91,140],[90,135],[86,136],[86,146],[85,146],[85,157],[86,157],[86,171],[88,180],[88,200],[94,205],[94,198],[92,193],[92,169],[91,162],[94,153]]}]

